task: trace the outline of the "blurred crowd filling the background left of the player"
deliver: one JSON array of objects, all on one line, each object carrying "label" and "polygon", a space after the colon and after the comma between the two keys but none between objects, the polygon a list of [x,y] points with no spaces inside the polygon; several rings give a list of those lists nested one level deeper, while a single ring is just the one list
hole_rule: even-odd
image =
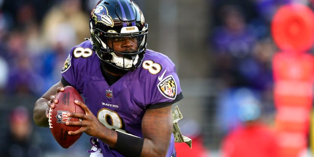
[{"label": "blurred crowd filling the background left of the player", "polygon": [[89,13],[97,2],[0,0],[1,157],[87,156],[87,136],[65,150],[48,128],[35,127],[35,99],[26,98],[39,98],[60,80],[71,48],[90,36]]}]

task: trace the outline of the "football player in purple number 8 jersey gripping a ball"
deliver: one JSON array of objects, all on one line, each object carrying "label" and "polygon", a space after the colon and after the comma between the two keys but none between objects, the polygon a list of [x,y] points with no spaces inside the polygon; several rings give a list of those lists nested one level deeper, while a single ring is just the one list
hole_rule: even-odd
[{"label": "football player in purple number 8 jersey gripping a ball", "polygon": [[175,64],[146,49],[148,24],[131,0],[100,0],[90,14],[91,38],[75,46],[62,78],[34,106],[34,122],[48,127],[55,93],[75,87],[83,119],[69,135],[91,136],[91,157],[175,157],[172,105],[183,99]]}]

